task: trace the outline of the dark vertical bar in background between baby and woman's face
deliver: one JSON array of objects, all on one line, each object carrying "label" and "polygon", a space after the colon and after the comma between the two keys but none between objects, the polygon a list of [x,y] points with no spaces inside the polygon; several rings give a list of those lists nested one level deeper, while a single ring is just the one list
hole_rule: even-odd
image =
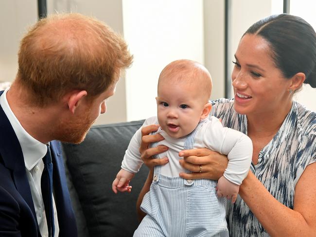
[{"label": "dark vertical bar in background between baby and woman's face", "polygon": [[228,39],[230,37],[230,9],[231,0],[225,0],[225,98],[229,98],[231,92],[230,72],[228,71],[228,58],[230,55],[228,46]]}]

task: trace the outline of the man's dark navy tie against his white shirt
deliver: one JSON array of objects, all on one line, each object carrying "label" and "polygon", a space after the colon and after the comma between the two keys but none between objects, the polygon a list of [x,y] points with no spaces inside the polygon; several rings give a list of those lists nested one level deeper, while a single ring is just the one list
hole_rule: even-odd
[{"label": "man's dark navy tie against his white shirt", "polygon": [[53,210],[53,163],[50,146],[47,145],[47,153],[43,157],[44,170],[41,177],[41,189],[45,206],[48,236],[53,237],[55,232]]}]

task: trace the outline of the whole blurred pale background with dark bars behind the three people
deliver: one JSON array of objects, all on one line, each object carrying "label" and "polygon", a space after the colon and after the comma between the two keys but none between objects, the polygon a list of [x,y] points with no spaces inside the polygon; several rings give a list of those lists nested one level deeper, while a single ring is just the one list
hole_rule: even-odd
[{"label": "whole blurred pale background with dark bars behind the three people", "polygon": [[[96,124],[156,115],[158,76],[173,60],[187,58],[209,69],[211,99],[232,97],[231,61],[250,25],[273,14],[300,16],[316,29],[314,0],[1,0],[0,81],[12,82],[19,40],[39,14],[78,12],[123,35],[134,54],[107,112]],[[303,37],[303,36],[302,36]],[[304,85],[295,100],[316,111],[316,89]]]}]

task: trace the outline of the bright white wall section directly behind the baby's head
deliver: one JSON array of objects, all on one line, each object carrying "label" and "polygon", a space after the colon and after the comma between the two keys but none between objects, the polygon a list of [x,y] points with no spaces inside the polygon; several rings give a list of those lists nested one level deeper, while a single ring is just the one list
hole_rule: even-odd
[{"label": "bright white wall section directly behind the baby's head", "polygon": [[126,73],[127,120],[156,115],[158,76],[168,63],[204,63],[202,13],[202,0],[123,0],[124,37],[135,57]]}]

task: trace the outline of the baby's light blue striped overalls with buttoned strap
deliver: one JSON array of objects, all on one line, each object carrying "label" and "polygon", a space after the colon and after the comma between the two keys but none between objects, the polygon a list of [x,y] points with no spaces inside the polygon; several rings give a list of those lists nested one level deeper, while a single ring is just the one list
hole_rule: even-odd
[{"label": "baby's light blue striped overalls with buttoned strap", "polygon": [[[203,120],[187,135],[185,150],[193,149],[202,123]],[[157,143],[152,144],[156,146]],[[150,191],[140,206],[147,215],[134,237],[228,237],[226,199],[217,197],[216,183],[209,179],[167,177],[156,166]]]}]

